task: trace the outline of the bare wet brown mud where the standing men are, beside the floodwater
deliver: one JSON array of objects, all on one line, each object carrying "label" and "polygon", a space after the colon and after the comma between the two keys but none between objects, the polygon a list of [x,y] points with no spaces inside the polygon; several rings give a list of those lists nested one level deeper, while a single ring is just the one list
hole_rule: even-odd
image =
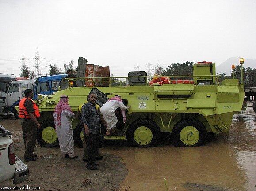
[{"label": "bare wet brown mud where the standing men are, beside the floodwater", "polygon": [[[0,124],[13,132],[15,154],[23,160],[24,143],[20,120],[15,118],[0,119]],[[99,170],[87,170],[83,162],[83,148],[75,148],[79,158],[64,159],[59,148],[35,147],[37,161],[25,162],[29,168],[29,178],[19,184],[40,186],[46,191],[66,190],[120,190],[120,183],[128,170],[121,158],[102,152],[103,159],[97,161]],[[13,186],[12,180],[0,186]]]}]

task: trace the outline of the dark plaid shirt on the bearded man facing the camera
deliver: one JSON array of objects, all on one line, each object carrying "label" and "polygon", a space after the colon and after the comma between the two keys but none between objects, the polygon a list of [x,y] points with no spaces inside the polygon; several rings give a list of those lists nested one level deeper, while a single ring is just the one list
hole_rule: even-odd
[{"label": "dark plaid shirt on the bearded man facing the camera", "polygon": [[[94,103],[87,102],[83,105],[81,112],[81,124],[87,125],[91,134],[99,134],[100,118]],[[82,125],[82,128],[84,133],[84,125]]]}]

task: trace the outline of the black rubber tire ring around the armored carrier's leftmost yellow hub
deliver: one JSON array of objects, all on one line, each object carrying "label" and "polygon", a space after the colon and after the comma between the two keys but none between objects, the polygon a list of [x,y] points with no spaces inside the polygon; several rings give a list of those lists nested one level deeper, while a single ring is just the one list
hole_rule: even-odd
[{"label": "black rubber tire ring around the armored carrier's leftmost yellow hub", "polygon": [[[59,147],[59,141],[58,139],[56,141],[54,141],[53,143],[47,143],[46,141],[43,140],[43,130],[45,128],[49,128],[51,130],[51,132],[55,132],[54,129],[55,129],[55,125],[54,125],[54,122],[53,121],[50,121],[50,122],[43,122],[41,124],[41,128],[38,129],[37,131],[37,142],[39,143],[39,145],[41,147]],[[55,132],[56,133],[56,132]],[[55,135],[54,135],[55,136]]]}]

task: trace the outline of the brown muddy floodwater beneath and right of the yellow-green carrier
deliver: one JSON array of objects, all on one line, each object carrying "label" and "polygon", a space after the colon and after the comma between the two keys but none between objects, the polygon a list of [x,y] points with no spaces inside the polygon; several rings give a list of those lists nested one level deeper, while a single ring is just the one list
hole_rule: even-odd
[{"label": "brown muddy floodwater beneath and right of the yellow-green carrier", "polygon": [[[236,114],[229,134],[204,147],[175,147],[164,141],[155,148],[111,143],[103,152],[126,163],[125,190],[256,191],[256,114],[252,107]],[[166,179],[166,181],[164,181]]]}]

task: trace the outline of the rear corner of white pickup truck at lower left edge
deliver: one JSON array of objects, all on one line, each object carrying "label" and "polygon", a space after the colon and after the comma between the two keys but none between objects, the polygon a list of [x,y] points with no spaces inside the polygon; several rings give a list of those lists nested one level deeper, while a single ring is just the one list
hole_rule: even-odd
[{"label": "rear corner of white pickup truck at lower left edge", "polygon": [[13,178],[13,184],[28,178],[27,165],[14,154],[11,132],[0,125],[0,183]]}]

